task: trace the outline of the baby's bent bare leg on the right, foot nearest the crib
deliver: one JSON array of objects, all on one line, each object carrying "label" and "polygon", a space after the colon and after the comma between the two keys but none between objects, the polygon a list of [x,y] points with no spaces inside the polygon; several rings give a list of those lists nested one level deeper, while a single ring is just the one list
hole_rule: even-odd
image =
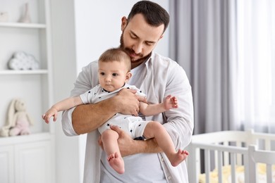
[{"label": "baby's bent bare leg on the right, foot nearest the crib", "polygon": [[144,136],[147,139],[156,139],[157,144],[159,144],[159,147],[164,151],[173,166],[178,165],[188,156],[188,151],[179,149],[176,152],[169,133],[159,122],[149,122],[145,127]]}]

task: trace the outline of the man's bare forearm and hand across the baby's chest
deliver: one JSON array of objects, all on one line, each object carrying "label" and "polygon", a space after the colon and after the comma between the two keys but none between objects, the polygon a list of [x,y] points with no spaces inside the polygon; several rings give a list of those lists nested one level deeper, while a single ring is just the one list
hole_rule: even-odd
[{"label": "man's bare forearm and hand across the baby's chest", "polygon": [[75,133],[92,132],[116,113],[138,115],[139,98],[135,92],[133,89],[121,89],[116,96],[110,99],[77,106],[72,114]]}]

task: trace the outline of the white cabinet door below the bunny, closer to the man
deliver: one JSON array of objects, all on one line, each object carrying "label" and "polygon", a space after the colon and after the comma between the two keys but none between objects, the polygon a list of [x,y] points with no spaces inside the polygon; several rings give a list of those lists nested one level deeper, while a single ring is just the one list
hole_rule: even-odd
[{"label": "white cabinet door below the bunny, closer to the man", "polygon": [[51,152],[49,141],[15,146],[16,183],[50,183]]}]

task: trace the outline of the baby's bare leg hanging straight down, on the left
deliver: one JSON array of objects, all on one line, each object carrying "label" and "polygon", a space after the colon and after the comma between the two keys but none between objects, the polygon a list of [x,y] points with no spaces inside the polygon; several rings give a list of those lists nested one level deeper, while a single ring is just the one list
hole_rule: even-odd
[{"label": "baby's bare leg hanging straight down, on the left", "polygon": [[107,160],[111,168],[119,174],[124,173],[124,161],[118,148],[118,134],[114,130],[106,130],[102,133],[102,144],[108,155]]}]

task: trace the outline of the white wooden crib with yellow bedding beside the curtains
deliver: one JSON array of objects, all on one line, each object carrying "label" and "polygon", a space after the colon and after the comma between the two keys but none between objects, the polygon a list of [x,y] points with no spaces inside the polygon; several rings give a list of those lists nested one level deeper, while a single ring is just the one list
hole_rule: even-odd
[{"label": "white wooden crib with yellow bedding beside the curtains", "polygon": [[224,131],[193,135],[190,183],[275,182],[275,134]]}]

